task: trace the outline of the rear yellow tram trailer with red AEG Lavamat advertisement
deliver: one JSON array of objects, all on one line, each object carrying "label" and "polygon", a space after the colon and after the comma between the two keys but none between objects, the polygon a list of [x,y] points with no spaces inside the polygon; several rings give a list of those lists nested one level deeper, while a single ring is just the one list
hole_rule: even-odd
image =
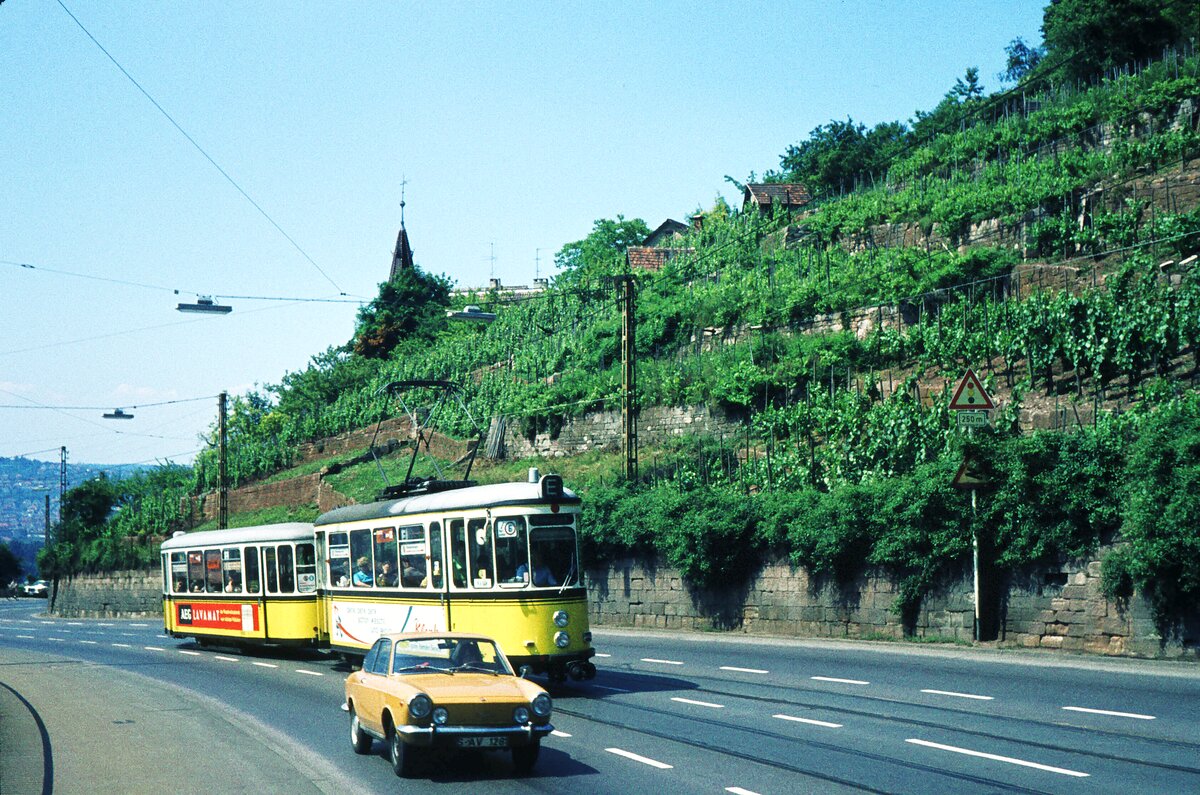
[{"label": "rear yellow tram trailer with red AEG Lavamat advertisement", "polygon": [[311,524],[176,533],[162,544],[162,582],[172,638],[324,645]]}]

